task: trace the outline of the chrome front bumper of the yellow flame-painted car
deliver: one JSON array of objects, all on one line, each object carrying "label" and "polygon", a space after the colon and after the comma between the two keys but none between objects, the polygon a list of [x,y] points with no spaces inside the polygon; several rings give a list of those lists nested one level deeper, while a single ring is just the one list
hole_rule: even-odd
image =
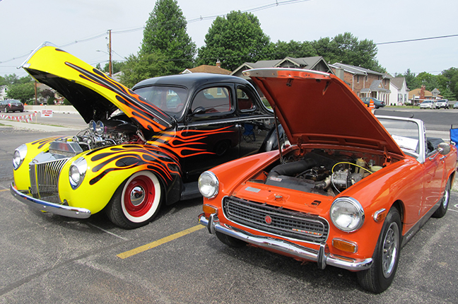
[{"label": "chrome front bumper of the yellow flame-painted car", "polygon": [[34,209],[47,211],[52,214],[59,214],[59,216],[68,216],[69,218],[88,218],[90,216],[90,211],[88,209],[49,203],[49,201],[42,201],[41,199],[30,197],[16,189],[14,183],[10,185],[10,192],[13,194],[13,197],[16,197],[16,199]]}]

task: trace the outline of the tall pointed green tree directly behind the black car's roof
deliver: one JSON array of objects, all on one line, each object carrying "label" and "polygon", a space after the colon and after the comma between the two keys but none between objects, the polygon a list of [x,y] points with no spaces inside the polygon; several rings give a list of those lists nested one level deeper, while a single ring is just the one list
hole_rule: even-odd
[{"label": "tall pointed green tree directly behind the black car's roof", "polygon": [[146,21],[139,55],[160,52],[171,63],[170,74],[193,66],[196,44],[187,34],[187,22],[176,0],[158,0]]}]

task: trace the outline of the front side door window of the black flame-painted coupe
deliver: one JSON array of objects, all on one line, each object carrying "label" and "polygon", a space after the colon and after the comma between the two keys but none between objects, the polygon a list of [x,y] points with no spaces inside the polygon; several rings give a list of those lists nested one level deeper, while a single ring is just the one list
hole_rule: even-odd
[{"label": "front side door window of the black flame-painted coupe", "polygon": [[204,107],[206,113],[222,113],[231,110],[230,91],[224,87],[204,88],[192,102],[191,110]]}]

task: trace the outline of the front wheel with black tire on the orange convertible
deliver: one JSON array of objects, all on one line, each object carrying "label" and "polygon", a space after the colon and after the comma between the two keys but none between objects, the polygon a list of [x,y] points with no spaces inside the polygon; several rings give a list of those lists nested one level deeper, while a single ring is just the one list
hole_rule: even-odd
[{"label": "front wheel with black tire on the orange convertible", "polygon": [[382,293],[391,285],[401,252],[401,216],[392,207],[383,223],[370,269],[358,271],[358,282],[366,291]]}]

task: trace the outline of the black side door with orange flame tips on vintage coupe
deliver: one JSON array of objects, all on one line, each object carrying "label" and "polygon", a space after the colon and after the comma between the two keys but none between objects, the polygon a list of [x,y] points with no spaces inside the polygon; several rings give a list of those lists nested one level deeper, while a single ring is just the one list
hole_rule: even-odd
[{"label": "black side door with orange flame tips on vintage coupe", "polygon": [[233,84],[198,90],[187,109],[180,134],[190,148],[182,159],[184,180],[196,180],[205,170],[239,157]]}]

